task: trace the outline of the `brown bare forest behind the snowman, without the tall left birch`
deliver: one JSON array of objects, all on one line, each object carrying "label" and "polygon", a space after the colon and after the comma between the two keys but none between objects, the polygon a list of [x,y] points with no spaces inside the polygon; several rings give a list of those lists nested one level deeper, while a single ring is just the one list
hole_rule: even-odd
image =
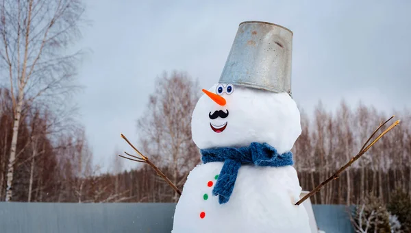
[{"label": "brown bare forest behind the snowman, without the tall left birch", "polygon": [[[147,103],[146,117],[138,121],[136,132],[140,141],[136,146],[182,189],[188,172],[201,161],[191,139],[190,114],[182,112],[192,111],[199,88],[186,73],[164,73],[157,82],[158,89]],[[0,199],[4,200],[13,119],[12,99],[7,89],[1,89],[0,101]],[[312,203],[356,204],[369,194],[388,202],[396,188],[411,193],[411,115],[406,110],[395,115],[401,119],[400,125],[338,179],[311,197]],[[81,125],[65,125],[71,130],[58,131],[59,127],[53,127],[56,121],[52,121],[55,119],[52,112],[35,107],[25,109],[22,116],[12,201],[178,200],[173,189],[147,164],[123,171],[123,163],[133,161],[113,154],[110,171],[116,173],[101,174],[92,163],[92,151]],[[360,103],[349,108],[343,101],[335,112],[325,110],[321,103],[310,116],[301,110],[302,134],[292,152],[303,190],[312,190],[355,156],[379,123],[388,117],[371,106]]]}]

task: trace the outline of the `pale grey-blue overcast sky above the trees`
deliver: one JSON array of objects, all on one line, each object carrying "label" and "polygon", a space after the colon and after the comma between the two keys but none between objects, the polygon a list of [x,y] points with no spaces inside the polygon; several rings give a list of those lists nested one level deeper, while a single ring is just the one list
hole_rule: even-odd
[{"label": "pale grey-blue overcast sky above the trees", "polygon": [[201,88],[218,82],[242,21],[292,30],[292,93],[308,112],[320,99],[332,110],[343,98],[388,114],[409,108],[410,9],[406,0],[89,0],[92,26],[76,47],[92,53],[77,98],[95,160],[108,169],[114,149],[129,151],[121,133],[137,142],[136,119],[163,71],[187,71]]}]

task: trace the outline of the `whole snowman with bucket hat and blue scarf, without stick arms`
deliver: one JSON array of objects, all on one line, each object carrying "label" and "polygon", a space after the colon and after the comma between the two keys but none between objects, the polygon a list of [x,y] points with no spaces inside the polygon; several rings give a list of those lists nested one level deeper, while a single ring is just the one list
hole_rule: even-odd
[{"label": "whole snowman with bucket hat and blue scarf, without stick arms", "polygon": [[218,84],[192,112],[202,164],[187,177],[172,233],[310,232],[290,150],[301,134],[292,99],[292,32],[240,23]]}]

